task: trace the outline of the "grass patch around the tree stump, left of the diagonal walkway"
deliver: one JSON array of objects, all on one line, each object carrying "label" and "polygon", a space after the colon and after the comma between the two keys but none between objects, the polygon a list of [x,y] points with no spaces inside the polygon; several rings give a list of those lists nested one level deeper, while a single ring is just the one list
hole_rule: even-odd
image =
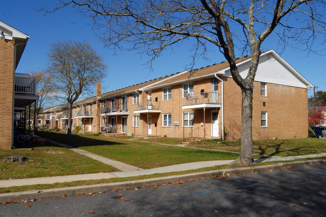
[{"label": "grass patch around the tree stump, left of the diagonal walkway", "polygon": [[23,179],[47,176],[76,175],[98,172],[119,171],[89,157],[79,155],[67,148],[47,142],[44,145],[15,143],[17,149],[0,150],[0,159],[7,156],[22,155],[29,158],[24,163],[0,161],[0,179]]}]

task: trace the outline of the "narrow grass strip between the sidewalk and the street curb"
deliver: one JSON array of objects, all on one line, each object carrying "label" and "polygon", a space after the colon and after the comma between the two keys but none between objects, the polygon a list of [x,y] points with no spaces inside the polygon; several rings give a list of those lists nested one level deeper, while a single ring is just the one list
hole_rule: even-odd
[{"label": "narrow grass strip between the sidewalk and the street curb", "polygon": [[[304,159],[298,159],[298,160],[292,160],[292,161],[313,160],[313,159],[319,159],[319,158],[318,157],[304,158]],[[286,162],[286,161],[262,162],[262,163],[257,163],[255,166],[277,164],[277,163],[282,163],[282,162]],[[172,175],[182,175],[182,174],[188,174],[188,173],[194,173],[194,172],[222,170],[222,169],[240,168],[240,167],[244,167],[244,166],[219,165],[219,166],[206,167],[206,168],[201,168],[201,169],[196,169],[196,170],[185,170],[185,171],[167,172],[167,173],[159,173],[159,174],[156,173],[156,174],[124,177],[124,178],[97,179],[97,180],[74,181],[74,182],[65,182],[65,183],[13,186],[13,187],[7,187],[7,188],[0,188],[0,193],[42,190],[42,189],[50,189],[50,188],[61,188],[61,187],[82,186],[82,185],[103,184],[103,183],[115,183],[115,182],[124,182],[124,181],[134,181],[134,180],[150,179],[150,178],[165,177],[165,176],[172,176]]]}]

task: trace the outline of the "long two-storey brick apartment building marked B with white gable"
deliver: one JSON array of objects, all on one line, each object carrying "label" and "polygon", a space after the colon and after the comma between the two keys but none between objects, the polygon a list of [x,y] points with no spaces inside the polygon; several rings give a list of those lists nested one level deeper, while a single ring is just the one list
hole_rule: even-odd
[{"label": "long two-storey brick apartment building marked B with white gable", "polygon": [[[237,59],[245,77],[250,56]],[[253,139],[293,139],[308,135],[307,90],[313,87],[274,50],[261,54],[254,82]],[[106,132],[177,138],[241,139],[241,90],[228,62],[184,71],[101,94],[74,104],[73,126],[85,132]],[[65,106],[43,110],[48,123],[67,126]],[[39,124],[46,120],[39,118]],[[66,119],[65,119],[66,118]],[[65,122],[66,120],[66,122]],[[288,130],[291,129],[291,130]],[[224,133],[223,133],[224,134]]]}]

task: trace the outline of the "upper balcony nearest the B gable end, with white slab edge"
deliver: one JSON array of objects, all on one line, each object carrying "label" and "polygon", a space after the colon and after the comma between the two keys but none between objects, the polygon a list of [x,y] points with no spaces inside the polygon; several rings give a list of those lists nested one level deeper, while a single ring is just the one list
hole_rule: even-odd
[{"label": "upper balcony nearest the B gable end, with white slab edge", "polygon": [[191,93],[184,97],[182,109],[200,109],[221,107],[217,92]]}]

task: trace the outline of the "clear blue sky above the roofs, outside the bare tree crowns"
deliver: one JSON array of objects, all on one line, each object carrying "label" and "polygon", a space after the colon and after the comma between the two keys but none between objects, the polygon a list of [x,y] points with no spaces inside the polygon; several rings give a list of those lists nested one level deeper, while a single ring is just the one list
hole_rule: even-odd
[{"label": "clear blue sky above the roofs, outside the bare tree crowns", "polygon": [[[82,14],[75,13],[70,8],[64,8],[52,14],[43,15],[43,12],[33,10],[43,6],[55,6],[56,0],[33,0],[33,1],[2,1],[0,20],[13,28],[30,36],[17,68],[17,73],[27,73],[43,68],[46,64],[48,45],[56,40],[72,39],[77,41],[88,41],[99,54],[104,56],[108,66],[108,75],[102,82],[102,93],[128,87],[154,78],[182,72],[191,63],[192,53],[189,51],[188,42],[172,50],[163,52],[155,62],[154,71],[149,72],[146,61],[147,56],[141,56],[134,51],[120,51],[117,56],[113,56],[113,50],[104,48],[97,39],[89,25],[90,20]],[[278,39],[277,39],[278,40]],[[263,43],[261,50],[277,50],[277,40],[273,37]],[[325,46],[325,45],[321,45]],[[325,80],[325,54],[321,55],[294,50],[287,47],[281,57],[287,61],[294,69],[303,75],[310,83],[318,86],[317,90],[326,91]],[[308,55],[308,56],[307,56]],[[208,53],[211,61],[199,58],[196,60],[194,68],[201,68],[213,63],[225,61],[223,55],[217,47],[211,47]],[[313,89],[308,91],[308,96],[313,95]]]}]

